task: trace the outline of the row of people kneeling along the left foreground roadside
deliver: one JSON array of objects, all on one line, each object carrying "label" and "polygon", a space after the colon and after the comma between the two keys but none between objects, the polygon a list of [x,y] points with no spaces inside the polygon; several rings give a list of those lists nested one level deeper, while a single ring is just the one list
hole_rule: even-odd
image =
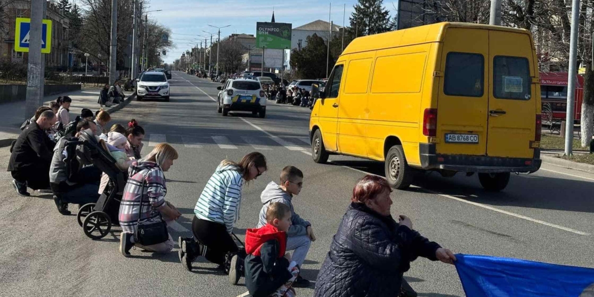
[{"label": "row of people kneeling along the left foreground roadside", "polygon": [[[109,177],[94,165],[82,166],[68,141],[86,133],[96,137],[128,179],[121,195],[119,251],[129,257],[132,247],[168,253],[175,242],[166,226],[181,212],[166,201],[165,172],[178,159],[167,143],[157,144],[145,157],[144,129],[134,119],[128,127],[115,124],[105,110],[89,109],[72,121],[72,100],[60,97],[39,108],[24,123],[12,144],[8,170],[18,195],[27,188],[51,192],[59,213],[68,215],[68,204],[94,203]],[[51,135],[51,136],[50,136]],[[260,195],[261,210],[247,229],[245,244],[233,233],[239,219],[245,185],[268,170],[263,154],[253,152],[239,162],[223,160],[208,179],[194,207],[192,237],[178,238],[178,256],[187,270],[204,257],[228,275],[235,285],[245,277],[253,297],[295,296],[294,287],[307,287],[301,267],[316,236],[312,223],[296,213],[295,197],[304,187],[304,173],[286,166],[279,183],[270,182]],[[455,255],[430,242],[412,228],[411,220],[391,216],[391,188],[386,180],[368,175],[353,188],[350,204],[340,222],[330,251],[315,282],[315,296],[416,296],[403,273],[418,257],[453,264]],[[160,227],[160,228],[159,228]],[[142,230],[140,232],[139,230]],[[146,232],[145,232],[146,230]],[[289,253],[292,251],[292,253]]]}]

